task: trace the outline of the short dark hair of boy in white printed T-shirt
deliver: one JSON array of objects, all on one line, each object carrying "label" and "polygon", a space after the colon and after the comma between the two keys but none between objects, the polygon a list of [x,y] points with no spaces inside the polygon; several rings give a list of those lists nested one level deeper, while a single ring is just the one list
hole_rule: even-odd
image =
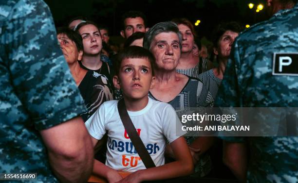
[{"label": "short dark hair of boy in white printed T-shirt", "polygon": [[116,60],[113,63],[115,75],[119,74],[121,63],[127,58],[147,58],[150,62],[152,76],[154,76],[155,57],[149,50],[138,46],[127,47],[117,54]]}]

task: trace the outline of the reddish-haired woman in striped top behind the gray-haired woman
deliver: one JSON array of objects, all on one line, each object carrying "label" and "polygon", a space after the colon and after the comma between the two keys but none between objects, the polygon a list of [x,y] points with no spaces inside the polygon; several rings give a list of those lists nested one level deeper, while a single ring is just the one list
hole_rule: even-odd
[{"label": "reddish-haired woman in striped top behind the gray-haired woman", "polygon": [[176,70],[181,74],[197,78],[199,74],[211,69],[213,66],[208,59],[192,54],[194,38],[197,35],[191,22],[186,18],[175,18],[172,21],[178,25],[182,34],[181,57]]}]

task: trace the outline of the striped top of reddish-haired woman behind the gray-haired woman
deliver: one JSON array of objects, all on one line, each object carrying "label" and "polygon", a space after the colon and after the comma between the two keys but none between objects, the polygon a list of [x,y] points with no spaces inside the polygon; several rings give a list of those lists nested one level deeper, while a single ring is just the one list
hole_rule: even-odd
[{"label": "striped top of reddish-haired woman behind the gray-haired woman", "polygon": [[199,74],[207,71],[209,68],[209,60],[206,58],[200,57],[200,62],[192,68],[187,69],[176,69],[176,72],[180,74],[185,74],[186,76],[190,76],[193,78],[198,78]]}]

